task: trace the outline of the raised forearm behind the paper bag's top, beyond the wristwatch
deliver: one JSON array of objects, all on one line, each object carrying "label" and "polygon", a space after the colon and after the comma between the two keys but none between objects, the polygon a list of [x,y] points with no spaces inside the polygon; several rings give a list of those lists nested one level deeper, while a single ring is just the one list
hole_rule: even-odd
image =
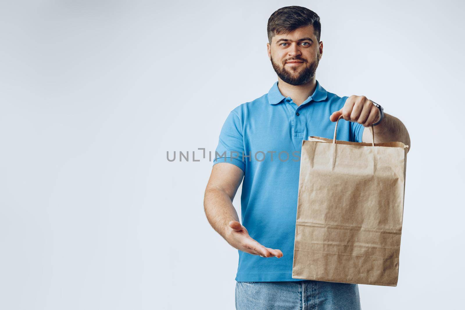
[{"label": "raised forearm behind the paper bag's top, beyond the wristwatch", "polygon": [[[369,130],[369,128],[365,128]],[[375,143],[399,141],[405,145],[410,145],[410,136],[405,125],[396,117],[384,114],[384,118],[376,126],[373,126],[375,134]],[[371,134],[370,134],[371,136]]]}]

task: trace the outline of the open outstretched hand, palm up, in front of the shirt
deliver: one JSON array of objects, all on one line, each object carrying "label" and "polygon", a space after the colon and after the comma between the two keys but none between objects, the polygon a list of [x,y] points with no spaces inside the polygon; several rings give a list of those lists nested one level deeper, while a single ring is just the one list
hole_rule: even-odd
[{"label": "open outstretched hand, palm up, in front of the shirt", "polygon": [[283,257],[283,252],[280,250],[266,248],[252,239],[246,227],[242,226],[238,221],[230,221],[229,227],[226,229],[228,229],[226,241],[240,251],[260,255],[261,257]]}]

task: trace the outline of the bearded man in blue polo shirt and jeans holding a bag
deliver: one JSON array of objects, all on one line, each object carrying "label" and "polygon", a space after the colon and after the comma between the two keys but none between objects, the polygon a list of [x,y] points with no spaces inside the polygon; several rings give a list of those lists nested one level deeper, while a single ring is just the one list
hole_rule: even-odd
[{"label": "bearded man in blue polo shirt and jeans holding a bag", "polygon": [[[360,309],[358,284],[292,278],[300,150],[309,136],[411,145],[402,122],[365,96],[339,97],[316,80],[323,55],[319,16],[283,7],[267,26],[278,75],[263,96],[237,106],[219,134],[204,207],[212,227],[239,251],[236,309]],[[409,147],[409,150],[411,147]],[[243,180],[241,222],[232,204]]]}]

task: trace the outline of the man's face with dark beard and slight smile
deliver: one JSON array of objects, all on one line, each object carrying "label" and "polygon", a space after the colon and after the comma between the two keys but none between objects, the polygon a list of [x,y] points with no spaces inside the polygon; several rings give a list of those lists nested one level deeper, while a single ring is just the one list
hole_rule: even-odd
[{"label": "man's face with dark beard and slight smile", "polygon": [[313,26],[305,26],[287,34],[277,34],[266,44],[268,57],[279,78],[291,85],[302,85],[315,77],[323,54]]}]

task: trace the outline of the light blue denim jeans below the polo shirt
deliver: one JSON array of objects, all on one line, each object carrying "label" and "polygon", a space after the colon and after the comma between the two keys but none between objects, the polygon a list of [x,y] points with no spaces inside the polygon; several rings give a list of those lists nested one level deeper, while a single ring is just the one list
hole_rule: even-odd
[{"label": "light blue denim jeans below the polo shirt", "polygon": [[236,282],[237,310],[361,310],[358,284],[313,280]]}]

